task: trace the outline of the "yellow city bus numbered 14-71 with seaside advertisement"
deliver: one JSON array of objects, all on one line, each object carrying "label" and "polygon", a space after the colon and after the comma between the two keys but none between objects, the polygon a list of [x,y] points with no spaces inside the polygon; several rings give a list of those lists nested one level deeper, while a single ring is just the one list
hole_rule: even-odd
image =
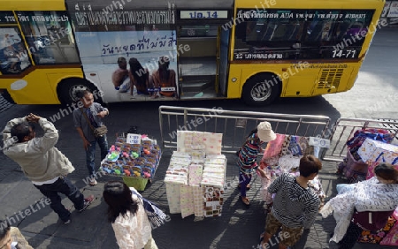
[{"label": "yellow city bus numbered 14-71 with seaside advertisement", "polygon": [[[241,98],[353,87],[382,0],[0,0],[0,91],[19,104]],[[385,24],[387,25],[387,23]]]}]

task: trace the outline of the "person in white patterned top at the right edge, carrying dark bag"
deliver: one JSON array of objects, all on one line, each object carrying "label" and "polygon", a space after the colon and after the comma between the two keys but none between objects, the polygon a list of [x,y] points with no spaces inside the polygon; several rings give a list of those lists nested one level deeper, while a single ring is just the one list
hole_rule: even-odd
[{"label": "person in white patterned top at the right edge, carrying dark bag", "polygon": [[374,174],[355,185],[339,185],[339,194],[320,210],[324,218],[333,213],[337,224],[331,241],[340,249],[353,248],[362,230],[383,228],[398,206],[398,170],[382,162]]}]

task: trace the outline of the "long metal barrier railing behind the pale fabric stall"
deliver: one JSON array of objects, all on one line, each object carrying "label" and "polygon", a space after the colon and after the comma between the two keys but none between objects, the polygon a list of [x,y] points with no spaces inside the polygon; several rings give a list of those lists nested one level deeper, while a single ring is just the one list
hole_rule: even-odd
[{"label": "long metal barrier railing behind the pale fabric stall", "polygon": [[[159,124],[163,147],[177,146],[177,131],[223,133],[222,152],[232,153],[241,147],[257,124],[268,121],[276,133],[327,138],[330,117],[292,115],[221,108],[159,107]],[[327,135],[328,136],[328,135]]]}]

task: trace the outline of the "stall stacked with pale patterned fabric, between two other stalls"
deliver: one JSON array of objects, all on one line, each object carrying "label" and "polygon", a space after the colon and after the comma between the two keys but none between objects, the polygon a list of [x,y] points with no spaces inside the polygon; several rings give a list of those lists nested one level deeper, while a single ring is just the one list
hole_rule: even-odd
[{"label": "stall stacked with pale patterned fabric, between two other stalls", "polygon": [[182,218],[221,215],[226,181],[221,140],[221,133],[177,132],[177,151],[165,174],[171,214]]}]

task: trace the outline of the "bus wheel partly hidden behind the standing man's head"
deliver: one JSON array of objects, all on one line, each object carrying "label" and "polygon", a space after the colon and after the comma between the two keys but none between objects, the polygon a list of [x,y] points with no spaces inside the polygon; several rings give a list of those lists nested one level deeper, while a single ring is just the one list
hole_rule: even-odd
[{"label": "bus wheel partly hidden behind the standing man's head", "polygon": [[95,102],[103,104],[102,94],[93,83],[87,79],[68,78],[63,79],[57,85],[57,96],[62,105],[71,105],[73,102],[79,101],[76,93],[80,90],[88,89],[91,93],[97,93],[94,97]]}]

